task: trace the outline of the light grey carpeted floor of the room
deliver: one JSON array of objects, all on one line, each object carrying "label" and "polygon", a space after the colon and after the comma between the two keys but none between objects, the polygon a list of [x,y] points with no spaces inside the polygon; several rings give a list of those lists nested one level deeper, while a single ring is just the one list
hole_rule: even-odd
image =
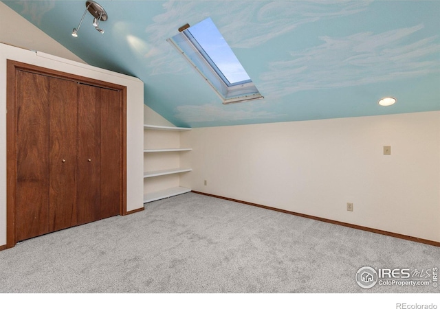
[{"label": "light grey carpeted floor of the room", "polygon": [[360,288],[362,266],[440,266],[440,248],[195,193],[0,251],[0,293],[439,293]]}]

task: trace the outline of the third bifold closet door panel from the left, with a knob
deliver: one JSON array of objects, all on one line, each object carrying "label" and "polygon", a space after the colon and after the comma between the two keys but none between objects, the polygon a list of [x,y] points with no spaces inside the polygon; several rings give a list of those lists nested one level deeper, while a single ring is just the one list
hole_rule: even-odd
[{"label": "third bifold closet door panel from the left, with a knob", "polygon": [[100,88],[78,84],[78,225],[100,219]]}]

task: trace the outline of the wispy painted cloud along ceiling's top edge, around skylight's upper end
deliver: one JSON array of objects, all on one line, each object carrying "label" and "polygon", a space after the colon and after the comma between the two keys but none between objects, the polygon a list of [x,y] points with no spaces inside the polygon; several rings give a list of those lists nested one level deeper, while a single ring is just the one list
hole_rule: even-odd
[{"label": "wispy painted cloud along ceiling's top edge, around skylight's upper end", "polygon": [[[166,12],[154,17],[146,34],[160,50],[149,59],[151,76],[162,73],[188,73],[188,64],[176,58],[164,38],[170,38],[181,26],[181,16],[191,24],[215,16],[217,27],[234,48],[252,48],[292,32],[298,25],[320,19],[362,12],[371,1],[168,1]],[[276,16],[276,19],[274,19]]]}]

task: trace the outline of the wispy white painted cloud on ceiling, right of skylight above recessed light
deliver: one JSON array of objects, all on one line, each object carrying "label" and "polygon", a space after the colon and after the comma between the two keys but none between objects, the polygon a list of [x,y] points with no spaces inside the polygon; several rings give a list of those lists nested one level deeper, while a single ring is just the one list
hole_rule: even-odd
[{"label": "wispy white painted cloud on ceiling, right of skylight above recessed light", "polygon": [[[423,29],[415,25],[373,34],[362,32],[342,38],[322,36],[322,45],[292,52],[290,60],[270,63],[261,74],[261,89],[288,95],[296,91],[350,87],[438,73],[438,37],[410,41]],[[406,40],[408,38],[408,40]],[[423,57],[434,56],[432,60]]]}]

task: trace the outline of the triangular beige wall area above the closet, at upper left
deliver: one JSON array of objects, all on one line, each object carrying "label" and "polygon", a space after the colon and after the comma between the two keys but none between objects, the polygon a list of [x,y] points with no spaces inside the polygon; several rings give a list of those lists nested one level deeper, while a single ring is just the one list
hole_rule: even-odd
[{"label": "triangular beige wall area above the closet, at upper left", "polygon": [[0,2],[0,43],[38,50],[39,52],[85,63],[69,49],[47,36],[3,2]]}]

